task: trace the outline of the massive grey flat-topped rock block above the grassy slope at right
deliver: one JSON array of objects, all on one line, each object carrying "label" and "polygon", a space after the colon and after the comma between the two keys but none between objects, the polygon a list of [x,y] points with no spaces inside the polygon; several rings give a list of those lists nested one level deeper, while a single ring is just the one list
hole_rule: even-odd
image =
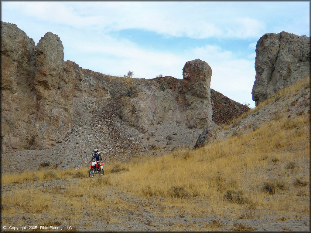
[{"label": "massive grey flat-topped rock block above the grassy slope at right", "polygon": [[310,75],[310,37],[284,31],[264,34],[257,42],[255,70],[252,98],[257,106]]}]

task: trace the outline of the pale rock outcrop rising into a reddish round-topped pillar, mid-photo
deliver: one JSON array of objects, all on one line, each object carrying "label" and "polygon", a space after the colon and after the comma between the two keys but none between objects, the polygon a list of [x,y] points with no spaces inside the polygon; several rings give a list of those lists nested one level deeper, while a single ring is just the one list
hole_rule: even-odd
[{"label": "pale rock outcrop rising into a reddish round-topped pillar, mid-photo", "polygon": [[[179,80],[175,91],[160,91],[165,77],[139,86],[137,98],[130,98],[119,111],[121,119],[141,132],[151,125],[171,120],[189,128],[204,128],[215,125],[211,107],[211,67],[199,59],[186,62],[183,80]],[[174,78],[173,78],[174,79]],[[169,78],[173,84],[172,78]],[[165,81],[166,82],[166,81]],[[167,82],[166,82],[167,83]]]}]

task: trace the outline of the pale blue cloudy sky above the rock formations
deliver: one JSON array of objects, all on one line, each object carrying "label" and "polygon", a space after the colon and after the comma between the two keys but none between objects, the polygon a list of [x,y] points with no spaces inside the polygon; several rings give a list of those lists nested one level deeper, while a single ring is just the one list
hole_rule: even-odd
[{"label": "pale blue cloudy sky above the rock formations", "polygon": [[108,75],[183,78],[212,69],[211,88],[255,107],[255,49],[266,33],[310,36],[309,1],[1,1],[1,21],[35,41],[57,34],[64,60]]}]

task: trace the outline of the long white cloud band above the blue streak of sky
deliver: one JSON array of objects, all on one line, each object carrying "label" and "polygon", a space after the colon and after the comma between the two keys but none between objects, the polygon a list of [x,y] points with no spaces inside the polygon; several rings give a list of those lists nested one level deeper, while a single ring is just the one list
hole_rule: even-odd
[{"label": "long white cloud band above the blue streak of sky", "polygon": [[[189,2],[3,2],[19,14],[37,21],[84,29],[118,31],[143,29],[168,36],[203,39],[248,38],[262,33],[264,25],[249,17],[224,20],[225,12],[213,4]],[[11,5],[12,4],[12,5]],[[208,8],[204,10],[205,8]],[[207,11],[208,10],[208,11]],[[220,19],[221,18],[221,19]]]}]

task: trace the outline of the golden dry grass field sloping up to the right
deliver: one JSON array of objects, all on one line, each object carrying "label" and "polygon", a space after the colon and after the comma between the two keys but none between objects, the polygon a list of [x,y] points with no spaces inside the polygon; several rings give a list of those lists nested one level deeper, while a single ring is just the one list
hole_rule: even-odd
[{"label": "golden dry grass field sloping up to the right", "polygon": [[[309,89],[308,77],[235,121]],[[111,162],[103,177],[89,178],[87,167],[5,173],[1,226],[309,231],[310,114],[289,118],[288,108],[277,110],[256,129],[197,150],[179,148],[160,157]]]}]

